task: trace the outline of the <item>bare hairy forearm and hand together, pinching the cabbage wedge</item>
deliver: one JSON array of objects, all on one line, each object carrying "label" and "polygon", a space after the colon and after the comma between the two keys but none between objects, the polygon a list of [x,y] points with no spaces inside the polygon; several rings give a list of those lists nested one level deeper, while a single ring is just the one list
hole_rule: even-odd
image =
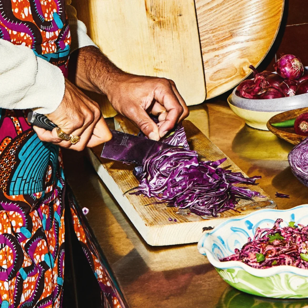
[{"label": "bare hairy forearm and hand together, pinching the cabbage wedge", "polygon": [[[159,140],[189,114],[172,80],[125,73],[94,46],[75,51],[70,66],[75,67],[71,78],[78,87],[107,95],[115,110],[150,139]],[[162,111],[167,112],[160,114]],[[157,125],[149,113],[159,115]]]}]

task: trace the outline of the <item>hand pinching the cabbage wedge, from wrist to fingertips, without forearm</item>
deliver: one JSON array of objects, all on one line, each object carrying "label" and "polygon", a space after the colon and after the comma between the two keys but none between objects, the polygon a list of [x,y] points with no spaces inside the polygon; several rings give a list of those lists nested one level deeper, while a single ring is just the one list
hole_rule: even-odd
[{"label": "hand pinching the cabbage wedge, from wrist to fingertips, without forearm", "polygon": [[[146,136],[160,140],[189,115],[172,80],[123,73],[107,91],[116,111],[136,123]],[[162,111],[167,111],[160,114]],[[149,117],[159,115],[158,124]]]}]

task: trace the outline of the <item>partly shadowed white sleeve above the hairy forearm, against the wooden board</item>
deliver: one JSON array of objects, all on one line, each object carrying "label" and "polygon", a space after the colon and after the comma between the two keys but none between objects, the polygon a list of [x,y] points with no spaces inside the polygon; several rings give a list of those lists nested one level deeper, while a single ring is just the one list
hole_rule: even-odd
[{"label": "partly shadowed white sleeve above the hairy forearm, against the wooden board", "polygon": [[65,11],[71,30],[71,52],[86,46],[97,47],[87,35],[87,27],[85,24],[77,19],[77,12],[71,6],[71,0],[65,0]]}]

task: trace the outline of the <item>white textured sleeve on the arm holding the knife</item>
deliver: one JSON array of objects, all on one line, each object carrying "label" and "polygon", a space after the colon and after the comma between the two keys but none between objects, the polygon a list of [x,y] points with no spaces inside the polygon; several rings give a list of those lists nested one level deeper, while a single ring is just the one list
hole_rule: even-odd
[{"label": "white textured sleeve on the arm holding the knife", "polygon": [[57,109],[64,91],[59,67],[35,56],[28,47],[0,39],[0,107],[48,114]]}]

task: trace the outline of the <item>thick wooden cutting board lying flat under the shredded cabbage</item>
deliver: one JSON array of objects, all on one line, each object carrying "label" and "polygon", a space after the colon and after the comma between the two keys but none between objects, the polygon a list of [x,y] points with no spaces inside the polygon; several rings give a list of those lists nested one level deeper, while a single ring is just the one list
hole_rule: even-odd
[{"label": "thick wooden cutting board lying flat under the shredded cabbage", "polygon": [[[122,116],[116,116],[115,121],[115,127],[118,130],[128,133],[138,132]],[[184,120],[183,125],[191,149],[196,150],[208,160],[218,160],[227,157],[190,121]],[[217,218],[202,218],[193,213],[188,214],[188,210],[180,210],[161,204],[148,205],[155,202],[155,199],[129,194],[123,196],[126,191],[138,186],[138,181],[132,174],[133,166],[100,158],[102,148],[103,145],[100,145],[89,150],[91,163],[128,218],[149,245],[162,246],[194,243],[199,241],[204,227],[211,229],[228,217],[247,214],[255,209],[276,207],[274,201],[259,186],[252,185],[245,186],[260,192],[261,195],[266,197],[255,197],[254,201],[241,200],[236,208],[238,212],[229,210],[218,214]],[[242,172],[229,158],[222,164],[222,167],[228,167],[228,169],[234,172]],[[172,218],[172,221],[169,221],[169,218]]]}]

